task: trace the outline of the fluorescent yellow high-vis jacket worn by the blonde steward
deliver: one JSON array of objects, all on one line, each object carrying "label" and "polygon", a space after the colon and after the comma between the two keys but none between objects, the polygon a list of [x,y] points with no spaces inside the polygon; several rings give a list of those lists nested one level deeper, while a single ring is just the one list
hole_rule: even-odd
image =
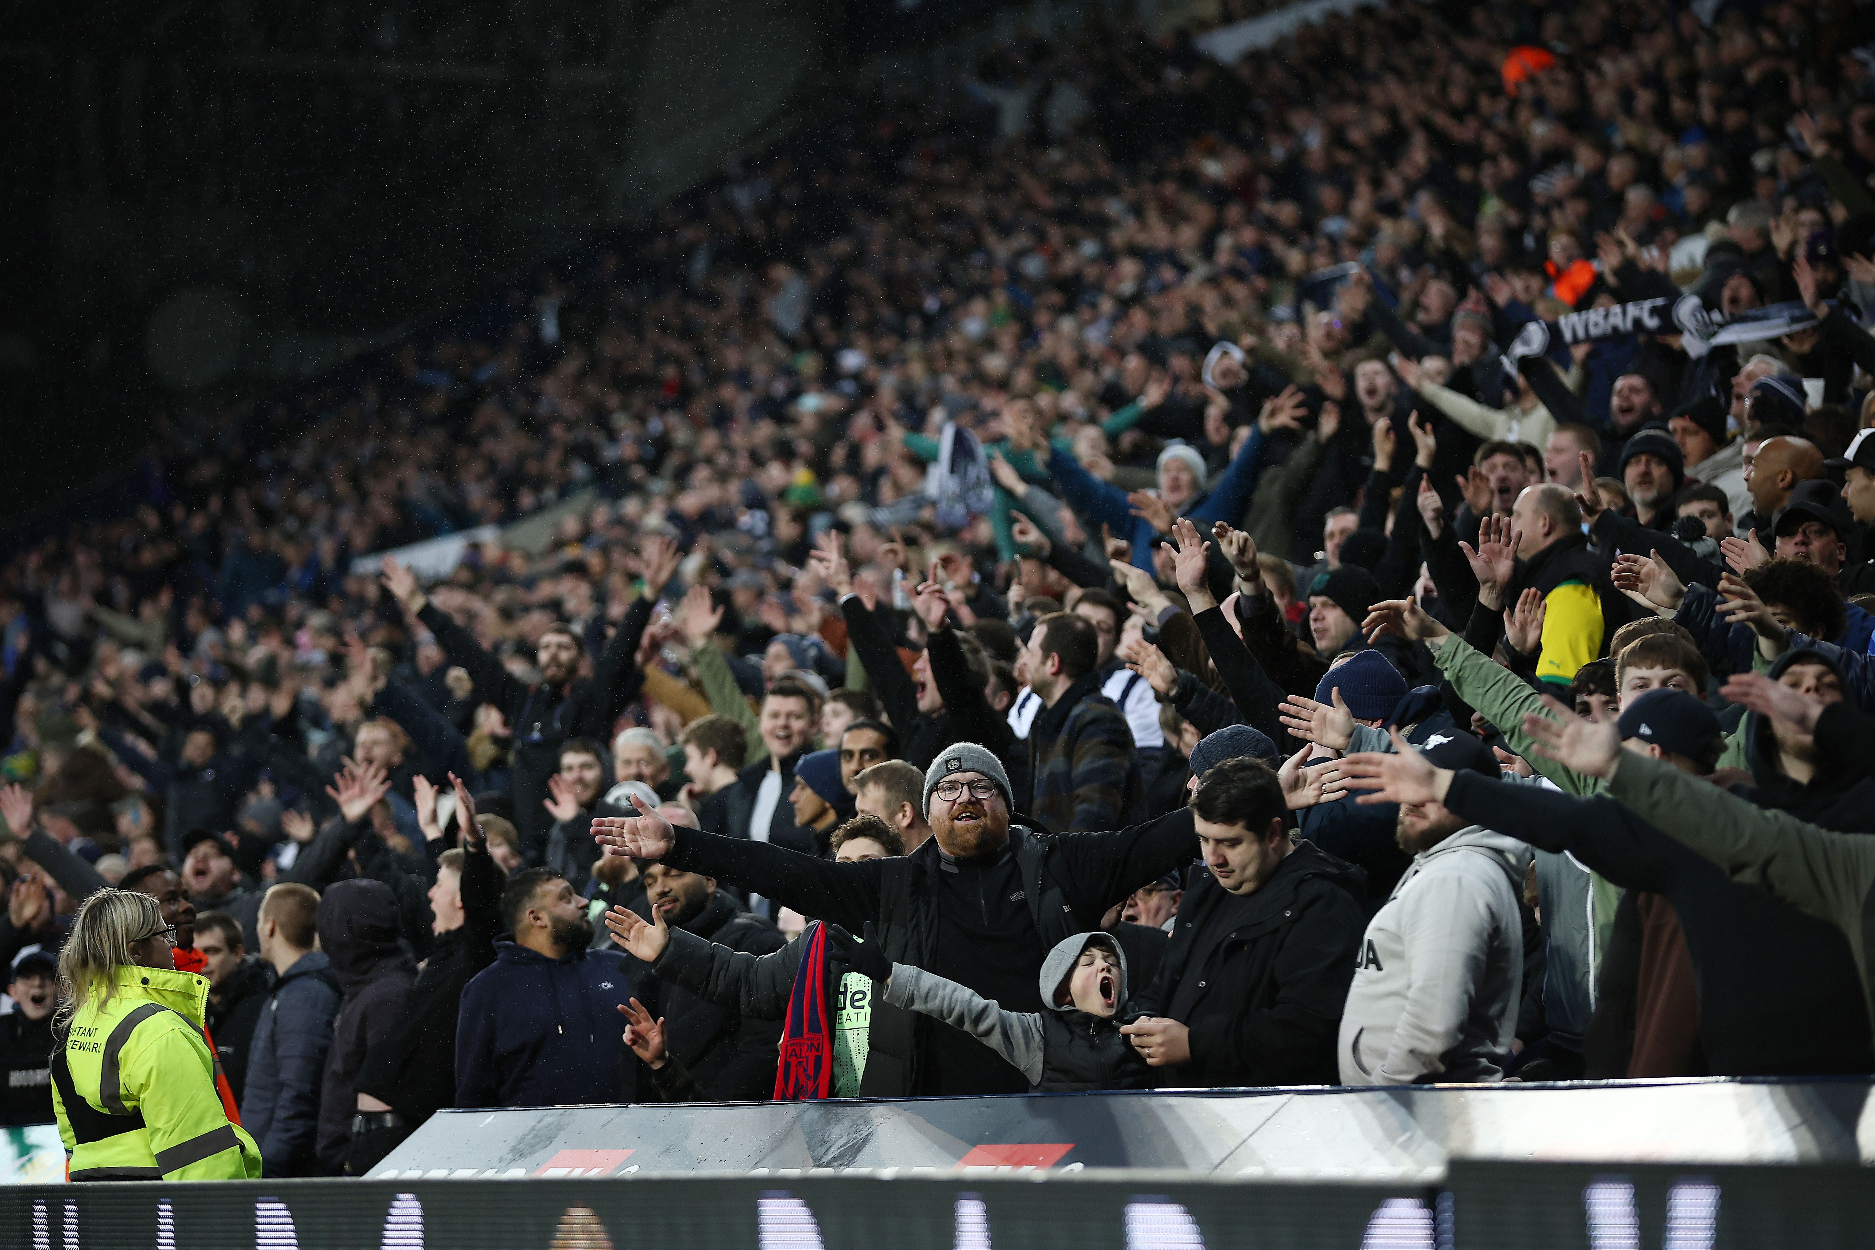
[{"label": "fluorescent yellow high-vis jacket worn by the blonde steward", "polygon": [[229,1121],[202,1036],[208,978],[112,969],[52,1051],[73,1181],[249,1181],[261,1147]]}]

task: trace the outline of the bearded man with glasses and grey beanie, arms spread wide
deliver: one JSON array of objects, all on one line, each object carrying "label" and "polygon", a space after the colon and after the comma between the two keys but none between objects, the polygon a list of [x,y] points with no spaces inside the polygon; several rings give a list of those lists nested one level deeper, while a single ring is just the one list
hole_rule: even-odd
[{"label": "bearded man with glasses and grey beanie, arms spread wide", "polygon": [[[1011,821],[1009,774],[973,742],[924,774],[932,838],[902,858],[831,864],[782,847],[671,828],[662,817],[598,819],[608,855],[658,860],[761,890],[853,933],[872,924],[885,956],[947,976],[1014,1012],[1039,1012],[1042,958],[1101,928],[1110,907],[1189,864],[1187,808],[1118,832],[1039,836]],[[973,1036],[874,999],[861,1096],[1003,1094],[1028,1078]]]}]

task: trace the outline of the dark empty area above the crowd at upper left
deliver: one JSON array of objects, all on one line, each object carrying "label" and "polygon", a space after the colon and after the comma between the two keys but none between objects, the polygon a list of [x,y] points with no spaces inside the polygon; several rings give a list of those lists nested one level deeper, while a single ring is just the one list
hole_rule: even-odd
[{"label": "dark empty area above the crowd at upper left", "polygon": [[0,6],[0,532],[827,114],[988,0]]}]

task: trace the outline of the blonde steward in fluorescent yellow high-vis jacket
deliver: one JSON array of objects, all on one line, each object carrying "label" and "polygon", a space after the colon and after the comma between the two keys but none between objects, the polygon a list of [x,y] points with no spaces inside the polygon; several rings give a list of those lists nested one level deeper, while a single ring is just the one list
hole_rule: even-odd
[{"label": "blonde steward in fluorescent yellow high-vis jacket", "polygon": [[171,965],[146,894],[99,890],[58,958],[52,1106],[73,1181],[242,1181],[261,1149],[229,1121],[202,1038],[208,978]]}]

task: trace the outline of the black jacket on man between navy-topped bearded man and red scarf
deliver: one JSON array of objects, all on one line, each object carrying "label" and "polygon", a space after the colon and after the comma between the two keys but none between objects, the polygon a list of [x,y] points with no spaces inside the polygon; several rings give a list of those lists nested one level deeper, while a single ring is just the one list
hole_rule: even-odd
[{"label": "black jacket on man between navy-topped bearded man and red scarf", "polygon": [[[769,920],[737,911],[735,901],[724,894],[716,894],[682,928],[703,941],[752,956],[765,956],[786,945],[782,931]],[[735,1102],[774,1096],[774,1057],[782,1036],[778,1018],[744,1018],[671,982],[647,984],[654,988],[654,1003],[647,1003],[647,1008],[664,1019],[664,1044],[696,1081],[701,1098]]]}]

